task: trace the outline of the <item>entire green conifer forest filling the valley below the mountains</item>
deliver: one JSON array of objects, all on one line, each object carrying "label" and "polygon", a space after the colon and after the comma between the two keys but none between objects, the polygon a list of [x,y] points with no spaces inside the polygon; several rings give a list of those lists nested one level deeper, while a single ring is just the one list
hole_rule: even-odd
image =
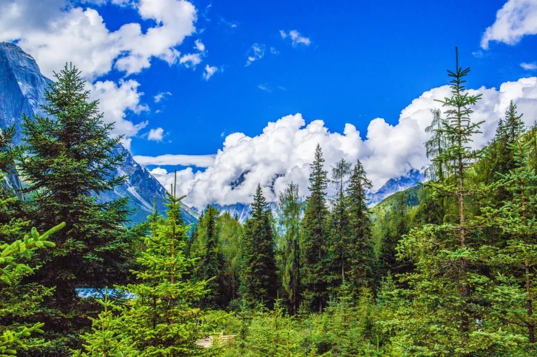
[{"label": "entire green conifer forest filling the valley below the mountains", "polygon": [[511,101],[472,148],[469,72],[431,112],[429,181],[373,208],[360,161],[317,145],[309,195],[273,210],[258,186],[244,224],[209,205],[186,225],[172,186],[130,225],[99,199],[121,137],[66,65],[24,144],[0,131],[0,357],[536,356],[537,127]]}]

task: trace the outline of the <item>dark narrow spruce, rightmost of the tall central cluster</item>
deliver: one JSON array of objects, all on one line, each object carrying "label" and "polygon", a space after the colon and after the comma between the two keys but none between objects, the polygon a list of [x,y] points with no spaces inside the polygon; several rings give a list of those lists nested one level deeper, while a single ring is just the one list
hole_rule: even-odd
[{"label": "dark narrow spruce, rightmost of the tall central cluster", "polygon": [[349,241],[346,244],[347,274],[354,291],[368,285],[372,287],[375,256],[371,232],[371,220],[367,208],[366,189],[371,189],[364,167],[358,160],[349,180],[347,202],[349,206]]}]

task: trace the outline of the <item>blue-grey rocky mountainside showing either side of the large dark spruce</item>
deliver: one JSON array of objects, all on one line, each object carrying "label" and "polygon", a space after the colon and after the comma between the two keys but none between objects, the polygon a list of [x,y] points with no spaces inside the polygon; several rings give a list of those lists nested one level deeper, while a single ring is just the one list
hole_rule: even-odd
[{"label": "blue-grey rocky mountainside showing either side of the large dark spruce", "polygon": [[[39,66],[32,56],[26,54],[16,44],[0,42],[0,129],[15,125],[17,135],[14,144],[20,144],[21,118],[45,115],[40,105],[45,101],[43,94],[50,79],[41,75]],[[125,147],[117,148],[119,153],[126,153],[125,161],[112,175],[127,175],[127,180],[114,191],[100,195],[100,199],[112,200],[129,197],[129,205],[135,211],[130,215],[132,224],[146,219],[153,212],[153,197],[157,197],[157,209],[163,213],[163,198],[166,190],[149,171],[134,161]],[[8,184],[20,187],[15,172],[8,175]],[[187,224],[197,221],[195,212],[187,206],[182,207],[182,216]]]}]

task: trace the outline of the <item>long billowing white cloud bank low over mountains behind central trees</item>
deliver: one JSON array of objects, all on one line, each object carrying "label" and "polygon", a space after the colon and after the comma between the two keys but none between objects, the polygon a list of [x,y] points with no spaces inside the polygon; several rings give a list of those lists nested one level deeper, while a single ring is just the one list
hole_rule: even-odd
[{"label": "long billowing white cloud bank low over mountains behind central trees", "polygon": [[[504,116],[511,99],[517,103],[519,113],[525,113],[526,124],[533,124],[535,117],[532,115],[537,113],[537,77],[506,82],[499,90],[481,87],[477,92],[482,93],[483,98],[475,107],[473,119],[485,120],[485,123],[483,133],[474,138],[474,147],[484,145],[494,136],[497,122]],[[255,137],[231,133],[214,159],[207,159],[204,172],[194,173],[191,169],[179,172],[182,177],[180,194],[187,195],[186,204],[197,207],[214,202],[248,203],[258,183],[267,198],[274,200],[277,192],[293,181],[300,184],[301,195],[306,195],[309,164],[317,143],[323,148],[327,169],[342,157],[353,162],[360,159],[374,188],[378,189],[389,178],[428,164],[423,143],[428,139],[425,127],[432,119],[430,109],[439,108],[440,103],[434,99],[444,98],[449,93],[448,86],[424,92],[401,111],[395,125],[375,118],[369,123],[365,138],[352,123],[345,125],[343,133],[331,132],[323,121],[307,123],[301,114],[269,123]],[[164,155],[163,159],[151,158],[141,163],[187,165],[188,160],[192,161],[188,155]],[[157,178],[166,183],[170,177],[166,174]]]}]

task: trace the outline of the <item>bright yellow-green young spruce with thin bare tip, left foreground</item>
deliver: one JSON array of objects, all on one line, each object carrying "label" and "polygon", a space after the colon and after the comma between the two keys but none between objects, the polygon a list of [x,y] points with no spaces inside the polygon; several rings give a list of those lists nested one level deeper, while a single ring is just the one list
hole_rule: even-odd
[{"label": "bright yellow-green young spruce with thin bare tip, left foreground", "polygon": [[136,259],[141,270],[132,271],[139,284],[129,284],[126,291],[135,298],[128,302],[121,318],[125,319],[127,336],[135,342],[140,356],[201,355],[195,344],[206,322],[198,308],[207,294],[207,281],[188,279],[195,259],[184,255],[188,227],[180,217],[183,197],[168,193],[165,198],[166,218],[154,212],[156,222],[144,240],[146,249]]}]

